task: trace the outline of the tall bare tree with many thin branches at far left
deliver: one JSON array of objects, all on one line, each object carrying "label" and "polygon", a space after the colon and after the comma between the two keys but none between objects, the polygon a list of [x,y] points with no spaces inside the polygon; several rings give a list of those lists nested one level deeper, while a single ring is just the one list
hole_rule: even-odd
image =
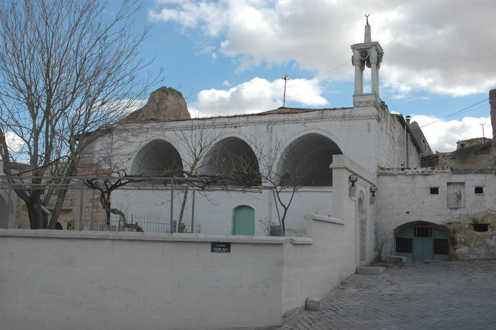
[{"label": "tall bare tree with many thin branches at far left", "polygon": [[[123,0],[107,20],[94,0],[5,0],[0,4],[0,153],[3,171],[26,162],[33,186],[57,176],[63,187],[77,174],[91,142],[112,131],[157,82],[138,45],[148,31],[131,31],[140,4]],[[104,15],[105,13],[105,15]],[[9,136],[21,149],[9,149]],[[22,173],[21,173],[22,174]],[[43,186],[41,186],[43,188]],[[40,189],[15,189],[32,229],[45,228]],[[61,189],[49,229],[54,229],[66,189]]]}]

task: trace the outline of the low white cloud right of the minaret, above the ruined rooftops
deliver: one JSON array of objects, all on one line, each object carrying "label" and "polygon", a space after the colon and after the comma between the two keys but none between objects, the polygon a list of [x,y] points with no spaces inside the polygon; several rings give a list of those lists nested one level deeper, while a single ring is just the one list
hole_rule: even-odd
[{"label": "low white cloud right of the minaret, above the ruined rooftops", "polygon": [[[456,150],[456,142],[474,137],[482,137],[484,125],[485,137],[493,137],[491,117],[464,117],[461,120],[439,120],[433,116],[413,115],[412,122],[416,121],[422,128],[433,152],[448,152]],[[437,121],[439,120],[439,121]],[[433,123],[434,121],[437,121]],[[433,123],[431,125],[427,125]],[[427,125],[425,127],[422,127]]]}]

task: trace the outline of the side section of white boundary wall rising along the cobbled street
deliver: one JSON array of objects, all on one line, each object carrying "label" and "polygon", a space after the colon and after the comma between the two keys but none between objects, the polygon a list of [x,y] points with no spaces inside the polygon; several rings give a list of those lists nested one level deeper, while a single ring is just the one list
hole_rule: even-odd
[{"label": "side section of white boundary wall rising along the cobbled street", "polygon": [[303,310],[308,297],[322,297],[355,272],[355,223],[306,217],[311,238],[295,237],[284,245],[283,321]]}]

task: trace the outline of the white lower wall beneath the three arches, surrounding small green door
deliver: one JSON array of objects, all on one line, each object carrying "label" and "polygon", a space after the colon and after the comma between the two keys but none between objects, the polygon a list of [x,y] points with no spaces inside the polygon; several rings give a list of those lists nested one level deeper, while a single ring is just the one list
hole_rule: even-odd
[{"label": "white lower wall beneath the three arches, surrounding small green door", "polygon": [[[281,198],[289,200],[290,192],[281,193]],[[191,197],[191,193],[189,193]],[[180,197],[174,198],[174,218],[179,218],[181,210]],[[170,217],[169,191],[125,191],[118,190],[112,195],[113,205],[122,207],[130,215]],[[283,209],[274,202],[271,190],[241,192],[217,191],[206,195],[195,193],[194,223],[201,225],[201,232],[206,234],[232,234],[233,210],[239,205],[248,205],[255,209],[255,235],[266,235],[258,220],[262,219],[279,224],[276,205],[282,216]],[[183,221],[191,222],[192,199],[186,203]],[[290,211],[286,217],[286,229],[290,236],[305,235],[307,213],[332,214],[332,187],[303,187],[294,196]],[[135,219],[135,218],[134,218]]]}]

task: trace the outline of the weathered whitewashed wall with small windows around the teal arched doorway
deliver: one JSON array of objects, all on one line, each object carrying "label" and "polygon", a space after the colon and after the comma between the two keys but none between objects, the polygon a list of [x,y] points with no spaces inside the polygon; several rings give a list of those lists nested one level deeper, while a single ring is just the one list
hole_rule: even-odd
[{"label": "weathered whitewashed wall with small windows around the teal arched doorway", "polygon": [[[447,206],[447,183],[465,183],[466,207]],[[451,173],[418,168],[384,169],[377,176],[376,246],[393,243],[394,229],[414,221],[443,225],[451,231],[452,259],[496,258],[496,178],[493,173]],[[439,187],[438,195],[430,188]],[[483,187],[484,194],[475,194]],[[489,223],[488,232],[475,232],[471,224]]]}]

